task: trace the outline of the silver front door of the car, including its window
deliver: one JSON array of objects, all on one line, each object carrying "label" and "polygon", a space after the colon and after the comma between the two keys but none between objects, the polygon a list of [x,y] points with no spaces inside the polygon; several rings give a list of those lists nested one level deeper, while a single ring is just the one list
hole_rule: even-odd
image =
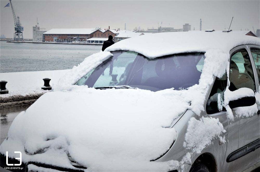
[{"label": "silver front door of the car, including its window", "polygon": [[[235,91],[239,88],[250,88],[259,92],[256,87],[258,77],[254,61],[246,45],[238,46],[230,51],[229,89]],[[252,65],[253,64],[253,65]],[[258,106],[259,107],[259,106]],[[251,107],[238,107],[232,109],[234,120],[228,119],[228,138],[226,150],[226,166],[224,171],[243,171],[257,163],[258,151],[247,149],[259,139],[260,121],[257,115],[257,105]],[[253,114],[248,112],[254,110]],[[243,149],[245,148],[245,149]],[[240,157],[246,153],[244,156]],[[232,158],[231,158],[232,157]],[[234,157],[236,157],[234,159]]]}]

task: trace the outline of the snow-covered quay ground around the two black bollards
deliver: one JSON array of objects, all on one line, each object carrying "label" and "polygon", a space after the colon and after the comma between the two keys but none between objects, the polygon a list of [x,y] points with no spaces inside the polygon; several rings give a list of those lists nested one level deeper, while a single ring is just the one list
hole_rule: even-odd
[{"label": "snow-covered quay ground around the two black bollards", "polygon": [[7,81],[6,88],[9,94],[2,94],[1,97],[9,97],[14,95],[28,95],[47,92],[41,89],[43,86],[43,78],[50,78],[50,85],[58,82],[67,70],[47,70],[34,72],[9,72],[0,73],[0,80]]}]

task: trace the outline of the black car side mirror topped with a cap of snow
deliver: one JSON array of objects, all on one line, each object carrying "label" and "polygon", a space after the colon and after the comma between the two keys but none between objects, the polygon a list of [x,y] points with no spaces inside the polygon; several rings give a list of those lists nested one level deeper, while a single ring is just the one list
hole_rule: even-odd
[{"label": "black car side mirror topped with a cap of snow", "polygon": [[255,93],[249,88],[239,88],[235,91],[230,91],[232,95],[231,101],[229,101],[229,107],[231,109],[237,107],[252,106],[256,103]]}]

